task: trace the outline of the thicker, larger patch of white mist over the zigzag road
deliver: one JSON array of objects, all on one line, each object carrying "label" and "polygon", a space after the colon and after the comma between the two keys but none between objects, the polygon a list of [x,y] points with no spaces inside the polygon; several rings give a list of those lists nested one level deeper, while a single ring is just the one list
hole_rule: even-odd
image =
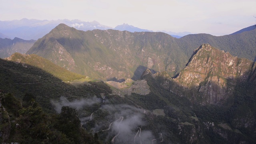
[{"label": "thicker, larger patch of white mist over the zigzag road", "polygon": [[[114,144],[151,144],[154,136],[149,130],[143,130],[146,125],[143,120],[143,110],[128,105],[104,105],[102,110],[107,110],[113,120],[109,122],[107,129],[97,129],[98,132],[106,132],[105,142]],[[96,124],[97,127],[102,128]],[[106,126],[105,126],[106,127]]]}]

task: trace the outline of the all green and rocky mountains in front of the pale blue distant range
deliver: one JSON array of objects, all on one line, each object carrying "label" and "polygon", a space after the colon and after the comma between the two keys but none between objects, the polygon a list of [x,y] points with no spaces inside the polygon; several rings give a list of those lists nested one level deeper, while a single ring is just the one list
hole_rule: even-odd
[{"label": "all green and rocky mountains in front of the pale blue distant range", "polygon": [[255,144],[255,42],[59,24],[0,58],[0,142]]}]

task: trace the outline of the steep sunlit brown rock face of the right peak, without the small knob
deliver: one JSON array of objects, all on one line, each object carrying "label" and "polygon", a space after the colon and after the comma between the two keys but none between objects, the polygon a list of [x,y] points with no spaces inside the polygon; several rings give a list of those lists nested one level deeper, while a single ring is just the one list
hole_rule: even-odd
[{"label": "steep sunlit brown rock face of the right peak, without the small knob", "polygon": [[236,79],[247,80],[254,67],[254,62],[246,58],[203,44],[173,80],[184,88],[198,90],[202,103],[221,105],[232,94]]}]

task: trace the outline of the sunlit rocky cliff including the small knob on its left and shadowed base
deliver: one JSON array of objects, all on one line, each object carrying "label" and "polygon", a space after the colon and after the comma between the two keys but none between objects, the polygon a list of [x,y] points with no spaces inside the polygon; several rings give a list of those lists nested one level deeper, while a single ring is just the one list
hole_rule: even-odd
[{"label": "sunlit rocky cliff including the small knob on its left and shadowed base", "polygon": [[188,96],[192,102],[222,105],[240,82],[254,82],[256,65],[246,58],[203,44],[194,50],[186,67],[175,77],[166,72],[153,76],[170,91]]}]

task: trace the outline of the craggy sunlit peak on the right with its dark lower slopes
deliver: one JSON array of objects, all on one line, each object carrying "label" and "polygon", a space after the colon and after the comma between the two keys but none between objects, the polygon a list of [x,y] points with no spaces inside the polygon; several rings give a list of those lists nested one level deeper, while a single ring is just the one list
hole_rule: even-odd
[{"label": "craggy sunlit peak on the right with its dark lower slopes", "polygon": [[[191,108],[198,118],[196,120],[204,121],[208,132],[212,131],[229,143],[236,142],[236,136],[245,133],[249,137],[240,140],[247,141],[245,143],[256,140],[255,62],[203,44],[194,51],[176,78],[171,78],[166,72],[152,74],[150,70],[146,70],[142,78],[148,84],[155,82],[155,87],[163,87],[172,94],[188,98],[193,103]],[[186,131],[191,134],[191,131]]]}]

